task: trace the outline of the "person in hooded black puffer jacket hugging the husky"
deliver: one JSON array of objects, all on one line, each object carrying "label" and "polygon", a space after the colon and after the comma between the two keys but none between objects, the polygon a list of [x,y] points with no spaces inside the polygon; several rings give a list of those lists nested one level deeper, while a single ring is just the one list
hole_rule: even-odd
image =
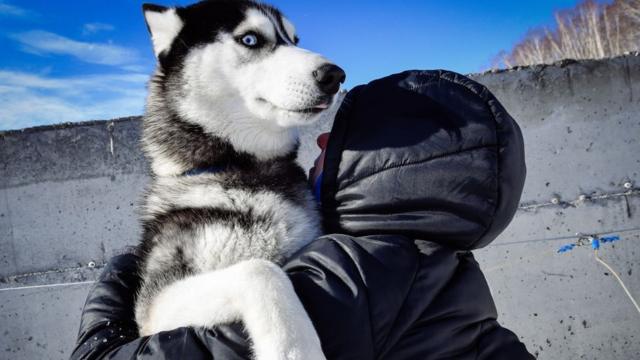
[{"label": "person in hooded black puffer jacket hugging the husky", "polygon": [[[284,269],[327,359],[533,359],[470,252],[509,224],[525,178],[495,97],[451,72],[392,75],[350,91],[319,144],[328,235]],[[239,324],[139,338],[137,259],[115,257],[90,291],[72,359],[250,358]]]}]

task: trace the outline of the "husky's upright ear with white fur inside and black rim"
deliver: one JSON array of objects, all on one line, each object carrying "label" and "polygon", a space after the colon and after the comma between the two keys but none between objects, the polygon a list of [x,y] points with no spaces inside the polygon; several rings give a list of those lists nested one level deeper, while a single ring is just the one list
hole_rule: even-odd
[{"label": "husky's upright ear with white fur inside and black rim", "polygon": [[174,8],[144,4],[142,11],[153,41],[153,52],[156,57],[160,57],[160,54],[171,49],[171,44],[182,30],[184,23]]}]

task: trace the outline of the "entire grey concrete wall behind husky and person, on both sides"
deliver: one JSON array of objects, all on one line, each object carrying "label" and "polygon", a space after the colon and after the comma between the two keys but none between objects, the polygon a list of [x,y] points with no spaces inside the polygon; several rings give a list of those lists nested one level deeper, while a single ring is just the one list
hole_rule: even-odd
[{"label": "entire grey concrete wall behind husky and person, on both sides", "polygon": [[[576,232],[620,234],[602,256],[640,297],[640,57],[472,77],[527,147],[522,209],[476,252],[500,321],[540,359],[640,358],[640,314],[609,271],[587,248],[555,252]],[[303,133],[303,164],[329,126]],[[138,239],[139,134],[134,118],[0,134],[0,359],[69,356],[91,280]]]}]

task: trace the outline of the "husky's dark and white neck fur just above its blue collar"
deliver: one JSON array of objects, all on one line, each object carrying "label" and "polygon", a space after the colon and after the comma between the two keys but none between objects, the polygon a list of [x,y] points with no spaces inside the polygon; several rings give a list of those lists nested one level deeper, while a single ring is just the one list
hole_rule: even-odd
[{"label": "husky's dark and white neck fur just above its blue collar", "polygon": [[[242,133],[242,130],[246,131]],[[258,167],[267,163],[295,161],[295,133],[258,134],[253,126],[236,127],[239,133],[224,136],[181,118],[166,102],[149,102],[143,119],[142,144],[156,176],[178,176],[193,169]],[[260,151],[260,137],[270,145]],[[256,141],[258,140],[258,141]],[[263,142],[265,142],[263,141]],[[277,145],[277,146],[276,146]]]}]

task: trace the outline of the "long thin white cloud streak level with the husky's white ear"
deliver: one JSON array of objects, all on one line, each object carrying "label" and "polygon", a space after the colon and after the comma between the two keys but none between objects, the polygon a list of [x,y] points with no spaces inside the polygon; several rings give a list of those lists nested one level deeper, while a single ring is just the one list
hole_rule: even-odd
[{"label": "long thin white cloud streak level with the husky's white ear", "polygon": [[32,30],[10,37],[18,41],[24,51],[36,55],[71,55],[84,62],[114,66],[132,65],[139,60],[134,49],[77,41],[48,31]]}]

